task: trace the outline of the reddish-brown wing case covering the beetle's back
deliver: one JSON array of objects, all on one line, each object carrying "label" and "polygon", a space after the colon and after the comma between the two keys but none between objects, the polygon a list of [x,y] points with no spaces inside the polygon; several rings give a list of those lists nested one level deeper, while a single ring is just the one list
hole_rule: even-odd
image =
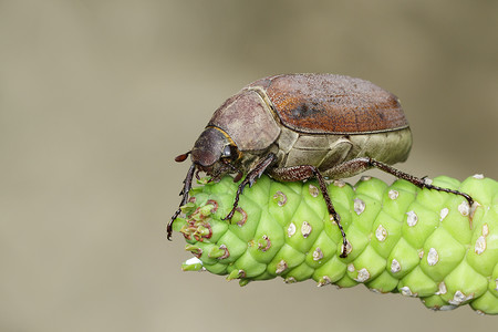
[{"label": "reddish-brown wing case covering the beetle's back", "polygon": [[263,91],[282,124],[310,134],[360,134],[408,126],[395,95],[361,79],[290,74],[249,85]]}]

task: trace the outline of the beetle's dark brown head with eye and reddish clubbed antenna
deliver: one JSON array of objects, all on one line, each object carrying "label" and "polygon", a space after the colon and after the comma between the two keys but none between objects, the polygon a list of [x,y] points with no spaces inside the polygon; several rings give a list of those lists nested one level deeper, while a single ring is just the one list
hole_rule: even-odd
[{"label": "beetle's dark brown head with eye and reddish clubbed antenna", "polygon": [[210,176],[238,172],[232,163],[239,158],[240,152],[234,141],[216,127],[207,127],[197,138],[194,148],[175,160],[183,162],[188,154],[196,168]]}]

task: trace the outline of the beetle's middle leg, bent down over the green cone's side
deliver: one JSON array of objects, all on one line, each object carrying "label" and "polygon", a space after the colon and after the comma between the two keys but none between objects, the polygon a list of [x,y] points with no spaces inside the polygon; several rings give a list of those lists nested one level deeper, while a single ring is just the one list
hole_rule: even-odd
[{"label": "beetle's middle leg, bent down over the green cone's side", "polygon": [[270,172],[270,176],[280,181],[300,181],[309,179],[313,176],[318,179],[320,190],[322,191],[323,199],[325,200],[326,204],[326,209],[329,210],[329,215],[331,217],[330,219],[338,224],[339,230],[341,231],[342,235],[342,253],[340,257],[342,258],[347,257],[349,246],[346,235],[341,225],[341,217],[338,215],[338,212],[334,209],[334,206],[332,205],[332,200],[330,199],[329,196],[329,190],[326,189],[325,179],[323,178],[320,170],[311,165],[300,165],[286,168],[274,168]]}]

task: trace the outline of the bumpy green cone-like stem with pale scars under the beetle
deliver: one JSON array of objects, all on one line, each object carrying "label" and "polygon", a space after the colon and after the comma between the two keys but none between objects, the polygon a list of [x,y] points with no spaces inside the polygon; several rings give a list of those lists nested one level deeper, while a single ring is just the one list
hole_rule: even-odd
[{"label": "bumpy green cone-like stem with pale scars under the beetle", "polygon": [[434,185],[469,194],[421,190],[405,180],[387,186],[363,177],[355,187],[336,180],[332,201],[351,243],[340,258],[341,232],[330,221],[318,183],[278,183],[262,176],[240,196],[231,224],[237,185],[231,177],[191,189],[174,229],[196,258],[184,270],[208,270],[252,280],[278,276],[286,282],[313,279],[381,293],[417,297],[430,309],[470,304],[498,314],[498,183],[476,175]]}]

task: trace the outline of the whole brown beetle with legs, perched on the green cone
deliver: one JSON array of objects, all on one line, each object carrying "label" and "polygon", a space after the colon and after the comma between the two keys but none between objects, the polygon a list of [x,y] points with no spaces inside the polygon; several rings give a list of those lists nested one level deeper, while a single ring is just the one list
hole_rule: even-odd
[{"label": "whole brown beetle with legs, perched on the green cone", "polygon": [[[225,220],[234,216],[243,188],[263,173],[280,181],[314,177],[330,220],[342,234],[341,257],[346,257],[346,235],[325,179],[346,178],[376,167],[419,188],[460,195],[473,206],[473,198],[465,193],[433,186],[391,166],[405,162],[411,147],[412,133],[398,98],[369,81],[334,74],[264,77],[229,97],[216,110],[193,149],[175,158],[191,158],[180,207],[188,201],[198,172],[215,179],[237,174],[235,181],[246,175]],[[179,214],[180,208],[167,226],[168,239]]]}]

